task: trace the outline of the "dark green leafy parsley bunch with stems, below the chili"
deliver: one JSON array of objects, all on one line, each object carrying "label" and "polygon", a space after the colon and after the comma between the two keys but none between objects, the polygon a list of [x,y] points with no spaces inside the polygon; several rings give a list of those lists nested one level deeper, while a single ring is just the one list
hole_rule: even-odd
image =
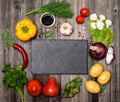
[{"label": "dark green leafy parsley bunch with stems, below the chili", "polygon": [[26,72],[22,70],[22,65],[11,68],[10,64],[3,67],[2,72],[5,73],[3,84],[5,89],[15,88],[21,101],[24,102],[24,95],[22,92],[23,86],[27,83]]}]

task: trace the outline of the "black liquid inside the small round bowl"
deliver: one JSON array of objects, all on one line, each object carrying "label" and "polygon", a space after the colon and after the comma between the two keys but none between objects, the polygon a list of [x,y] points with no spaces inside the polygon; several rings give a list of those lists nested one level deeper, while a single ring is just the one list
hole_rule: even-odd
[{"label": "black liquid inside the small round bowl", "polygon": [[42,23],[43,23],[45,26],[50,26],[53,22],[54,22],[54,18],[53,18],[53,16],[50,15],[50,14],[45,14],[45,15],[42,17]]}]

